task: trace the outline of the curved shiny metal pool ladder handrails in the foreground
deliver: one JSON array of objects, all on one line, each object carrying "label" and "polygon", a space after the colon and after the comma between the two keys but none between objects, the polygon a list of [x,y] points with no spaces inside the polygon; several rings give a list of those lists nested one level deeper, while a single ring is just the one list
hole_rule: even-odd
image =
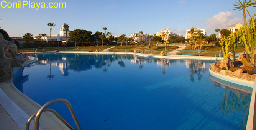
[{"label": "curved shiny metal pool ladder handrails in the foreground", "polygon": [[53,99],[49,102],[46,102],[46,104],[44,104],[44,106],[42,106],[37,113],[34,113],[33,115],[31,115],[31,117],[28,119],[27,123],[26,123],[26,126],[25,126],[25,130],[29,130],[29,126],[30,126],[30,122],[33,120],[34,117],[35,120],[34,120],[34,130],[38,130],[39,128],[39,119],[40,119],[40,116],[43,112],[52,112],[57,118],[59,118],[69,129],[71,130],[74,130],[73,127],[71,127],[71,125],[69,125],[69,123],[67,123],[66,120],[64,120],[61,115],[59,115],[55,110],[53,109],[48,109],[46,107],[48,107],[49,105],[55,103],[55,102],[63,102],[67,105],[67,107],[69,108],[69,112],[71,113],[72,117],[73,117],[73,120],[75,121],[75,125],[77,126],[78,130],[82,130],[78,120],[77,120],[77,117],[75,116],[75,112],[74,110],[72,109],[72,106],[71,104],[69,103],[69,101],[67,101],[66,99],[63,99],[63,98],[56,98],[56,99]]}]

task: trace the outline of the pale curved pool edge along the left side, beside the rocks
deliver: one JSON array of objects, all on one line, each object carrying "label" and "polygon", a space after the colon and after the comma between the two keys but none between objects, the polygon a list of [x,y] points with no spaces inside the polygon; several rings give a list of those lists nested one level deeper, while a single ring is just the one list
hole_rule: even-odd
[{"label": "pale curved pool edge along the left side, beside the rocks", "polygon": [[[32,57],[30,60],[24,62],[23,65],[26,66],[37,61],[38,58]],[[20,68],[13,68],[13,73],[16,73],[18,69]],[[27,97],[25,94],[21,93],[13,85],[13,83],[1,83],[0,87],[2,88],[3,92],[29,116],[41,108],[41,105]],[[41,115],[39,125],[43,128],[43,130],[69,130],[69,128],[67,128],[64,123],[62,123],[59,119],[57,119],[57,117],[55,117],[55,115],[50,112],[44,112]]]}]

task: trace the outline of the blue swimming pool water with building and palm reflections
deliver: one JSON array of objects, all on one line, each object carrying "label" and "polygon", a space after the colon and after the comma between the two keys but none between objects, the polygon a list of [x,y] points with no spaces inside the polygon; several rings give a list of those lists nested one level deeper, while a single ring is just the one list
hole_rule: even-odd
[{"label": "blue swimming pool water with building and palm reflections", "polygon": [[[65,98],[88,130],[245,129],[251,91],[209,76],[208,60],[37,54],[15,86],[43,105]],[[76,128],[63,103],[49,106]]]}]

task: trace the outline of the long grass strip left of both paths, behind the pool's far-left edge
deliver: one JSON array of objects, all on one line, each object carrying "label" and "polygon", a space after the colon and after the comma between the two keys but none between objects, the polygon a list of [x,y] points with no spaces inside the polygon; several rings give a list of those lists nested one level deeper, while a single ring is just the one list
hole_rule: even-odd
[{"label": "long grass strip left of both paths, behind the pool's far-left edge", "polygon": [[24,48],[24,49],[18,49],[18,52],[34,52],[36,49],[39,52],[43,52],[43,49],[46,49],[46,51],[54,51],[54,50],[66,51],[66,49],[68,51],[82,51],[82,49],[84,49],[83,51],[87,51],[89,49],[91,49],[92,51],[95,51],[96,49],[106,49],[106,48],[110,48],[110,46],[51,47],[51,49],[49,47],[46,47],[46,48]]}]

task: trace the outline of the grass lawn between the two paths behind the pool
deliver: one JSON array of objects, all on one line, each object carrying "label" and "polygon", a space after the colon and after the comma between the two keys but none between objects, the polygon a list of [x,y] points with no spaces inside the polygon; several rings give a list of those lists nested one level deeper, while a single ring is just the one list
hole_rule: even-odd
[{"label": "grass lawn between the two paths behind the pool", "polygon": [[[176,50],[178,49],[178,46],[169,46],[168,50],[172,51],[172,50]],[[115,46],[113,49],[141,49],[141,50],[157,50],[157,51],[162,51],[165,50],[164,46],[149,46],[149,49],[146,47],[139,47],[139,46]]]}]

